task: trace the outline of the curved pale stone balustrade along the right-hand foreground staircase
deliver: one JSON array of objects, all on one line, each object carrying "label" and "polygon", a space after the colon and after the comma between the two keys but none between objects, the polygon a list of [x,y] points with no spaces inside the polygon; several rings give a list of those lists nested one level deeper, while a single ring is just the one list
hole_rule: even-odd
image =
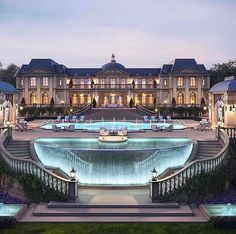
[{"label": "curved pale stone balustrade along the right-hand foreground staircase", "polygon": [[152,201],[164,200],[178,189],[184,187],[188,180],[203,172],[213,171],[225,159],[229,149],[229,137],[223,130],[219,131],[219,141],[223,148],[212,158],[195,160],[172,175],[150,182],[150,198]]}]

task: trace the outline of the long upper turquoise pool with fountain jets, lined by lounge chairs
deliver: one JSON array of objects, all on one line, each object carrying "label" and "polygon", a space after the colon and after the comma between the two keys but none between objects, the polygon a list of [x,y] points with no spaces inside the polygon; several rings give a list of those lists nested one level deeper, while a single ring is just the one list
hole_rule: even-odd
[{"label": "long upper turquoise pool with fountain jets, lined by lounge chairs", "polygon": [[[70,124],[75,125],[75,129],[87,129],[89,131],[98,131],[100,128],[107,128],[109,130],[118,130],[126,127],[129,131],[139,131],[142,129],[151,129],[151,125],[155,124],[157,126],[168,127],[170,123],[136,123],[136,122],[126,122],[126,121],[111,121],[111,122],[85,122],[85,123],[57,123],[57,126],[65,127]],[[185,129],[186,126],[180,123],[174,123],[173,127],[175,130]],[[41,126],[43,129],[52,129],[52,124],[46,124]]]}]

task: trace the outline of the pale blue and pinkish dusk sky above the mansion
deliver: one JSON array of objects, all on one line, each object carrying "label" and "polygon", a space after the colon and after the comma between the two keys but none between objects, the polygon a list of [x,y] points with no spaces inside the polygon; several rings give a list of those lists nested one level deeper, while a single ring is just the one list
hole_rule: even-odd
[{"label": "pale blue and pinkish dusk sky above the mansion", "polygon": [[0,62],[160,67],[236,59],[235,0],[0,0]]}]

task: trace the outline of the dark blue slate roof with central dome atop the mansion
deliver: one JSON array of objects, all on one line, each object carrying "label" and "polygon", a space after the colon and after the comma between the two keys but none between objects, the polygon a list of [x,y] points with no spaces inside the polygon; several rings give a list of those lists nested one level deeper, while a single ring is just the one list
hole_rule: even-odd
[{"label": "dark blue slate roof with central dome atop the mansion", "polygon": [[195,73],[207,74],[203,64],[197,64],[195,59],[175,59],[173,64],[164,64],[162,68],[125,68],[115,61],[112,55],[110,63],[106,63],[101,68],[67,68],[63,64],[58,64],[52,59],[31,59],[29,64],[23,64],[18,74],[31,73],[43,70],[48,73],[68,76],[96,76],[98,72],[118,69],[130,74],[130,76],[158,76],[169,73],[179,73],[184,70],[191,70]]}]

